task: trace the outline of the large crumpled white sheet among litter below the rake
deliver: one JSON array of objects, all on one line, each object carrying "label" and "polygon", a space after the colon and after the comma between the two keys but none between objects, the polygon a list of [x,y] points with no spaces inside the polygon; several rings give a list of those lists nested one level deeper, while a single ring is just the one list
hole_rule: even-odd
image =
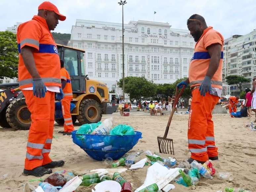
[{"label": "large crumpled white sheet among litter below the rake", "polygon": [[171,182],[175,177],[177,177],[180,168],[167,169],[166,167],[160,165],[159,163],[154,163],[148,168],[147,176],[144,184],[140,186],[135,192],[146,188],[147,186],[156,183],[159,189],[162,189],[169,182]]}]

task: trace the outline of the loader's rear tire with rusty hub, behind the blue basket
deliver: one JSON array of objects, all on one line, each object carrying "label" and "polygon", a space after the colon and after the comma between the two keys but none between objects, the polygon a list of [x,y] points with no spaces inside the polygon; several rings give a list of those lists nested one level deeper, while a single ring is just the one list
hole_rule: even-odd
[{"label": "loader's rear tire with rusty hub, behind the blue basket", "polygon": [[85,99],[80,102],[79,115],[76,116],[80,124],[98,123],[102,118],[100,104],[93,99]]}]

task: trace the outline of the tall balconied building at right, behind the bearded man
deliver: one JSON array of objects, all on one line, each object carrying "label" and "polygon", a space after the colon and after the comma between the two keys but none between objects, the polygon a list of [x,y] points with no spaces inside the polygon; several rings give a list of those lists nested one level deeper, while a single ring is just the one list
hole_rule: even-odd
[{"label": "tall balconied building at right, behind the bearded man", "polygon": [[[252,88],[252,77],[256,75],[256,30],[246,35],[233,35],[224,40],[224,58],[222,82],[229,75],[243,76],[249,83],[243,83],[242,89]],[[231,85],[231,95],[239,95],[237,85]]]}]

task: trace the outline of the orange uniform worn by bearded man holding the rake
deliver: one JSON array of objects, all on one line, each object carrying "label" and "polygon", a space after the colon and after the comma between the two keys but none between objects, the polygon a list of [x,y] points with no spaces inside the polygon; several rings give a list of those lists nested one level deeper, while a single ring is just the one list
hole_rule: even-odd
[{"label": "orange uniform worn by bearded man holding the rake", "polygon": [[[192,89],[192,103],[188,123],[188,143],[191,158],[198,161],[207,161],[209,157],[218,156],[218,148],[215,145],[212,110],[219,101],[222,89],[222,62],[223,62],[222,35],[213,30],[211,26],[206,28],[195,45],[194,55],[189,67],[189,81]],[[205,96],[200,95],[201,85],[210,63],[210,55],[206,49],[212,44],[221,45],[221,59],[219,67],[211,80],[211,91]]]}]

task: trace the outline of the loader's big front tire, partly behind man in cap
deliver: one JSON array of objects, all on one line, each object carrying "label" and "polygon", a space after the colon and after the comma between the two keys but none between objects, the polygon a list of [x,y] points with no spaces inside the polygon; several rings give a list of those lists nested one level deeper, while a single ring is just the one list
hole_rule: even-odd
[{"label": "loader's big front tire, partly behind man in cap", "polygon": [[6,110],[6,120],[16,130],[29,130],[31,124],[30,115],[25,98],[14,100]]}]

